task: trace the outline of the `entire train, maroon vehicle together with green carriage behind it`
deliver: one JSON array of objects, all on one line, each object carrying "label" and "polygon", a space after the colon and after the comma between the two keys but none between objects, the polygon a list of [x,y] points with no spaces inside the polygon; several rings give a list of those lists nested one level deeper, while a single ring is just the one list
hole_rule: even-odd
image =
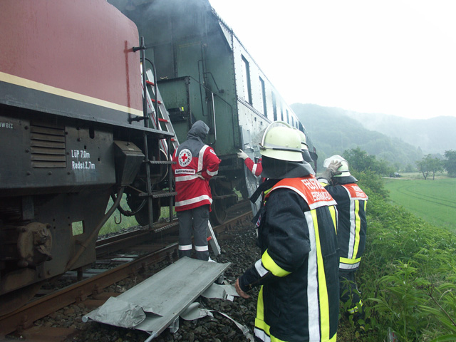
[{"label": "entire train, maroon vehicle together with green carriage behind it", "polygon": [[[90,265],[123,194],[152,227],[163,201],[153,194],[172,189],[172,137],[185,140],[195,120],[222,159],[214,222],[234,190],[257,186],[239,148],[258,157],[254,138],[274,120],[305,132],[207,0],[4,0],[0,31],[0,315]],[[152,125],[146,68],[173,132]]]}]

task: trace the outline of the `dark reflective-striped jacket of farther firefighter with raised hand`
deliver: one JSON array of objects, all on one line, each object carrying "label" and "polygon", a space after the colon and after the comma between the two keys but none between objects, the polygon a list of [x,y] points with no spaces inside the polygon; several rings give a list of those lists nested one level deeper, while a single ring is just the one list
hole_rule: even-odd
[{"label": "dark reflective-striped jacket of farther firefighter with raised hand", "polygon": [[[341,177],[342,182],[343,178]],[[318,180],[322,181],[322,179]],[[322,185],[325,184],[323,180]],[[325,185],[325,189],[337,202],[339,268],[354,271],[358,269],[366,247],[368,196],[355,182]]]}]

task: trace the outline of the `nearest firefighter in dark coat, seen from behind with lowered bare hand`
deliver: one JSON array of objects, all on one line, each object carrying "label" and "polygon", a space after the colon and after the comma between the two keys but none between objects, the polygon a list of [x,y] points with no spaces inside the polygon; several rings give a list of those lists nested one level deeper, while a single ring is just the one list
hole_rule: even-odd
[{"label": "nearest firefighter in dark coat, seen from behind with lowered bare hand", "polygon": [[[239,296],[261,286],[257,341],[336,341],[338,257],[336,202],[303,161],[301,139],[289,127],[269,125],[260,145],[266,180],[254,218],[261,259],[237,279]],[[332,214],[331,214],[332,213]]]}]

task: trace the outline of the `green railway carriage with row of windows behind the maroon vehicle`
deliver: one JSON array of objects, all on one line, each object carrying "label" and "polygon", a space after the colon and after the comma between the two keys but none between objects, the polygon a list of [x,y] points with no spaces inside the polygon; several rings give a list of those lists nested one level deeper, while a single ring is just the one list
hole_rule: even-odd
[{"label": "green railway carriage with row of windows behind the maroon vehicle", "polygon": [[207,143],[222,160],[210,182],[211,219],[223,222],[227,207],[237,201],[234,189],[248,197],[257,187],[237,158],[239,149],[259,157],[252,140],[272,121],[286,121],[303,132],[304,126],[208,0],[108,1],[145,37],[179,140],[185,140],[195,120],[209,125]]}]

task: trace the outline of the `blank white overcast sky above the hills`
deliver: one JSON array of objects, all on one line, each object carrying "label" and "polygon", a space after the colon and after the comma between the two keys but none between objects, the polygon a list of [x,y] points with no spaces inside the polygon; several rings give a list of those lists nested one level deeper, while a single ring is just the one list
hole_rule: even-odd
[{"label": "blank white overcast sky above the hills", "polygon": [[455,0],[209,0],[287,103],[456,116]]}]

